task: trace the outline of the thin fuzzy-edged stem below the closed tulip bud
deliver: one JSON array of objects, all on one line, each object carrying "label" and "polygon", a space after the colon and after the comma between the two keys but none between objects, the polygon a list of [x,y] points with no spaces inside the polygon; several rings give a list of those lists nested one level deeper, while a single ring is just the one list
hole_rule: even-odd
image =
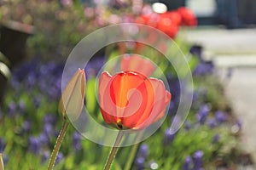
[{"label": "thin fuzzy-edged stem below the closed tulip bud", "polygon": [[55,147],[52,150],[51,156],[49,158],[48,170],[53,170],[53,167],[55,166],[55,160],[56,160],[56,157],[57,157],[57,155],[59,153],[59,150],[61,148],[62,140],[64,139],[64,136],[67,132],[67,127],[68,127],[68,122],[66,120],[64,120],[64,123],[61,127],[61,131],[60,131],[59,136],[56,140]]}]

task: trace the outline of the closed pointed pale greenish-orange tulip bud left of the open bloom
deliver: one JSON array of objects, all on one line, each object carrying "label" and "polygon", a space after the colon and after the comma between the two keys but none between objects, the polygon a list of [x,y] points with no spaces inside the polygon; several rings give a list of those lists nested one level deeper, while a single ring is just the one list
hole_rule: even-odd
[{"label": "closed pointed pale greenish-orange tulip bud left of the open bloom", "polygon": [[79,69],[67,83],[59,104],[59,111],[66,119],[67,115],[70,120],[79,118],[84,105],[85,94],[85,73]]}]

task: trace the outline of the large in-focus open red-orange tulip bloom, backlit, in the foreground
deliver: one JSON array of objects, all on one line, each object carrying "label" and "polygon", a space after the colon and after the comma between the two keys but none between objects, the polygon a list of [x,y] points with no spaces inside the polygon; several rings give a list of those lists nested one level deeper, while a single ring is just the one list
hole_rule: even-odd
[{"label": "large in-focus open red-orange tulip bloom, backlit, in the foreground", "polygon": [[106,123],[119,129],[142,129],[164,116],[171,94],[162,81],[135,71],[113,77],[102,72],[99,103]]}]

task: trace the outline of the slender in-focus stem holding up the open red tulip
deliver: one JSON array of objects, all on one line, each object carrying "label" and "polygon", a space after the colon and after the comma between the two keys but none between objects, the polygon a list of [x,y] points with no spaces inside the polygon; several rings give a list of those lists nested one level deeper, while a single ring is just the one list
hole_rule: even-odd
[{"label": "slender in-focus stem holding up the open red tulip", "polygon": [[116,152],[117,152],[117,150],[119,148],[119,143],[121,142],[121,139],[122,139],[123,135],[124,135],[124,132],[122,130],[120,130],[118,135],[117,135],[117,137],[116,137],[116,139],[115,139],[113,147],[112,147],[112,149],[111,149],[111,151],[110,151],[110,153],[108,155],[108,160],[106,162],[104,170],[109,170],[110,169],[111,164],[113,162],[113,158],[116,155]]}]

